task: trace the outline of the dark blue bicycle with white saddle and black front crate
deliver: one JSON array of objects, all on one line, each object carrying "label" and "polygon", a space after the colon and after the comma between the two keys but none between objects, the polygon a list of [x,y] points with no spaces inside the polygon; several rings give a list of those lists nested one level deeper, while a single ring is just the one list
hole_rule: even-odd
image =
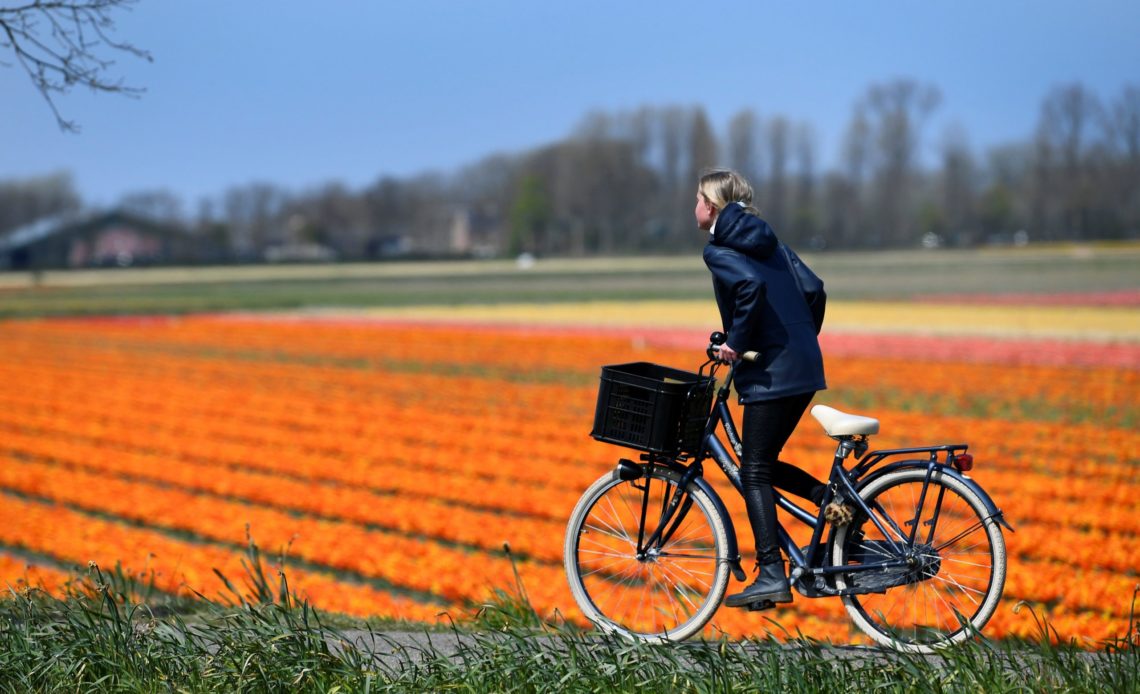
[{"label": "dark blue bicycle with white saddle and black front crate", "polygon": [[[711,458],[741,491],[741,443],[727,405],[739,362],[717,390],[723,343],[723,334],[710,335],[695,374],[650,362],[602,369],[592,435],[643,452],[641,463],[620,459],[585,491],[563,558],[575,601],[605,631],[686,639],[720,606],[730,572],[746,580],[732,517],[703,475]],[[1013,529],[966,474],[974,466],[968,446],[869,452],[878,419],[823,405],[811,411],[838,443],[819,513],[775,495],[779,508],[812,530],[798,547],[777,523],[795,590],[841,598],[860,630],[899,651],[930,653],[979,634],[1004,587],[1002,528]],[[846,513],[830,522],[829,507]]]}]

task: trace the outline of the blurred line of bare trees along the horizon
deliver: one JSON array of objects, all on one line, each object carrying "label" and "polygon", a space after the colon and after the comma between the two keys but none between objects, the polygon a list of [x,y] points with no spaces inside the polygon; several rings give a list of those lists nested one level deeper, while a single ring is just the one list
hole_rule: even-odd
[{"label": "blurred line of bare trees along the horizon", "polygon": [[[560,141],[448,173],[363,189],[252,183],[193,211],[174,193],[144,190],[120,206],[185,228],[213,261],[282,248],[344,260],[671,253],[703,243],[695,181],[725,165],[749,177],[762,214],[804,250],[1140,236],[1140,88],[1102,99],[1080,83],[1056,87],[1024,140],[982,153],[961,126],[930,132],[940,101],[913,80],[872,84],[828,169],[808,122],[744,109],[718,129],[700,106],[646,106],[591,113]],[[83,206],[66,173],[0,181],[0,231]]]}]

